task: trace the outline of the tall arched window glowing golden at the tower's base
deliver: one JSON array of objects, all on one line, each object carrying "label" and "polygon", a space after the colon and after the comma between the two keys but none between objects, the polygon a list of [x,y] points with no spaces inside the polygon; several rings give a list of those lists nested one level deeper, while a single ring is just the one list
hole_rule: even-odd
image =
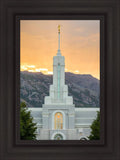
[{"label": "tall arched window glowing golden at the tower's base", "polygon": [[60,112],[55,114],[54,129],[63,129],[63,115]]}]

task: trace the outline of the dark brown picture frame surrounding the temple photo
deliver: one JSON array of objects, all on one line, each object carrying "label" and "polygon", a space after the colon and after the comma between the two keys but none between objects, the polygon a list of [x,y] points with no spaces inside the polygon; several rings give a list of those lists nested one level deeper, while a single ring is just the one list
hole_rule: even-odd
[{"label": "dark brown picture frame surrounding the temple photo", "polygon": [[[2,0],[0,14],[1,160],[120,159],[120,1]],[[20,141],[20,19],[100,19],[101,139]]]}]

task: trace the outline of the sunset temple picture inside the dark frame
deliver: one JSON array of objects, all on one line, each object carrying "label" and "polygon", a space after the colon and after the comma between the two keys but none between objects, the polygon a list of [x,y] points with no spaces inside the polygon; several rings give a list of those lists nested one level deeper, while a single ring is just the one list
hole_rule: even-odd
[{"label": "sunset temple picture inside the dark frame", "polygon": [[100,139],[99,44],[100,20],[20,20],[21,139]]}]

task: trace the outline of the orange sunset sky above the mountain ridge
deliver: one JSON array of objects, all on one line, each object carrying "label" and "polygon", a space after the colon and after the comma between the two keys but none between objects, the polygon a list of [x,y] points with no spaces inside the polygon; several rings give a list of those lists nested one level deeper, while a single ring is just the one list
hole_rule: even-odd
[{"label": "orange sunset sky above the mountain ridge", "polygon": [[100,77],[99,20],[21,20],[21,71],[53,73],[53,56],[60,49],[65,56],[65,71]]}]

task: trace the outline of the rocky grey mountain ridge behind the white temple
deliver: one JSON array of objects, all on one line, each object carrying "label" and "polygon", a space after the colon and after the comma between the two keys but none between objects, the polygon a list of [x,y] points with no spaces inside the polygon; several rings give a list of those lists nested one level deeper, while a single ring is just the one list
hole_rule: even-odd
[{"label": "rocky grey mountain ridge behind the white temple", "polygon": [[[49,95],[52,75],[22,71],[20,73],[20,101],[28,107],[42,107],[44,97]],[[99,107],[100,82],[91,75],[65,73],[68,92],[76,107]]]}]

